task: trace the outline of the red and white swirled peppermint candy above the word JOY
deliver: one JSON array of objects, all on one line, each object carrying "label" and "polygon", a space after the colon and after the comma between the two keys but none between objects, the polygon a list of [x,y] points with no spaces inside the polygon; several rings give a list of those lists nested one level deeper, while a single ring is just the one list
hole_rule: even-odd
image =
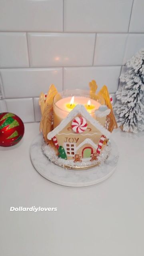
[{"label": "red and white swirled peppermint candy above the word JOY", "polygon": [[82,133],[86,130],[88,127],[88,124],[86,123],[86,119],[84,117],[76,117],[74,120],[72,120],[72,130],[76,133]]}]

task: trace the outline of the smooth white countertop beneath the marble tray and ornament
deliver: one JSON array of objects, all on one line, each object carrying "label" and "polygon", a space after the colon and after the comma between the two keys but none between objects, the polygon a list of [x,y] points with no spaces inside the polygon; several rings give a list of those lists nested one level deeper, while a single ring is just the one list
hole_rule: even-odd
[{"label": "smooth white countertop beneath the marble tray and ornament", "polygon": [[[144,133],[114,131],[120,158],[106,181],[84,188],[44,179],[31,164],[39,124],[25,124],[19,144],[0,147],[0,255],[144,255]],[[10,212],[57,207],[56,212]]]}]

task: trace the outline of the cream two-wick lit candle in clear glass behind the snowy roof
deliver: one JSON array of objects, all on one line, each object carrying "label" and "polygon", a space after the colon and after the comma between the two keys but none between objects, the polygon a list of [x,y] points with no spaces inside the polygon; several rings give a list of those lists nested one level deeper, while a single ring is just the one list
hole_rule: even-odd
[{"label": "cream two-wick lit candle in clear glass behind the snowy roof", "polygon": [[68,113],[73,110],[77,104],[85,106],[86,110],[90,113],[93,118],[95,117],[95,110],[98,110],[101,104],[94,99],[88,100],[85,96],[72,96],[61,98],[54,105],[54,128],[60,124],[60,122],[66,118]]}]

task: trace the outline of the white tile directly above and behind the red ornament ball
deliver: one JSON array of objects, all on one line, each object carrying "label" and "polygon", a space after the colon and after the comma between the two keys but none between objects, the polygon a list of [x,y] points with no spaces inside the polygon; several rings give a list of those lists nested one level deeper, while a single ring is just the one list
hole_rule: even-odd
[{"label": "white tile directly above and behind the red ornament ball", "polygon": [[32,98],[7,99],[8,112],[19,116],[23,122],[34,122],[34,107]]}]

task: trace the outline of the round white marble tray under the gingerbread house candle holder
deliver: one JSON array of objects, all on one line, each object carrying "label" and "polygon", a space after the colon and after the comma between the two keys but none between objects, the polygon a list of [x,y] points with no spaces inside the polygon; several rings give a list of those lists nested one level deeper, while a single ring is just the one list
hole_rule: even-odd
[{"label": "round white marble tray under the gingerbread house candle holder", "polygon": [[89,170],[64,169],[50,162],[42,153],[42,134],[38,134],[33,140],[30,146],[30,157],[34,168],[47,180],[63,186],[85,187],[106,180],[116,170],[119,156],[118,148],[113,140],[110,141],[112,151],[108,159],[100,166]]}]

